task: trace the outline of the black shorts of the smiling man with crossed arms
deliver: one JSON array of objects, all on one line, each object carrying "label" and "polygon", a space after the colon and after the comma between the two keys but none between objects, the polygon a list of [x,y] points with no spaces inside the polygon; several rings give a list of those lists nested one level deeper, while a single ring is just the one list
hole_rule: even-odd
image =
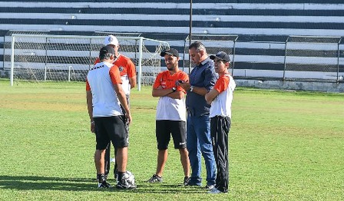
[{"label": "black shorts of the smiling man with crossed arms", "polygon": [[185,121],[155,121],[155,136],[157,137],[158,150],[167,149],[171,139],[171,134],[175,149],[186,148]]}]

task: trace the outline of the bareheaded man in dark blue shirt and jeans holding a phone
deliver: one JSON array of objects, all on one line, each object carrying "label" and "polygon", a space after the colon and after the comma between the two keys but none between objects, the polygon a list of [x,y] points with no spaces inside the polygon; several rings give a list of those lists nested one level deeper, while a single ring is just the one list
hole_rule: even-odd
[{"label": "bareheaded man in dark blue shirt and jeans holding a phone", "polygon": [[189,46],[189,55],[195,67],[190,73],[190,83],[180,84],[187,91],[186,142],[192,169],[189,185],[201,186],[202,153],[207,170],[205,188],[212,189],[215,186],[216,166],[210,138],[210,105],[206,103],[204,95],[212,90],[216,82],[214,62],[208,58],[201,42],[194,42]]}]

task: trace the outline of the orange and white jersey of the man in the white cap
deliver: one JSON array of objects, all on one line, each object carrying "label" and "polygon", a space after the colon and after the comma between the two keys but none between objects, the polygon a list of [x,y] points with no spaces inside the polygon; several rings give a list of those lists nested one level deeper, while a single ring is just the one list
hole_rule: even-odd
[{"label": "orange and white jersey of the man in the white cap", "polygon": [[[96,59],[95,64],[98,62],[100,62],[99,58]],[[136,68],[134,63],[129,57],[120,54],[118,58],[115,59],[113,64],[118,66],[121,75],[123,91],[126,95],[129,95],[131,88],[129,78],[133,78],[134,76],[136,76]]]}]

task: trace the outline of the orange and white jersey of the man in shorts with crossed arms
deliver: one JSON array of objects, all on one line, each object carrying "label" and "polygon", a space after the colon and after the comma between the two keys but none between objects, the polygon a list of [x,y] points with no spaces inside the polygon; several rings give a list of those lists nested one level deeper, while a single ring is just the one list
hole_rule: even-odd
[{"label": "orange and white jersey of the man in shorts with crossed arms", "polygon": [[[186,92],[181,86],[176,86],[176,82],[178,82],[179,80],[188,82],[189,76],[181,70],[174,73],[173,75],[171,75],[168,70],[162,71],[155,79],[153,88],[157,89],[158,87],[162,87],[163,89],[167,89],[176,87],[177,91],[181,91],[185,94]],[[160,97],[157,105],[157,114],[155,116],[155,119],[186,121],[185,98],[183,97],[182,99],[174,99],[168,96]]]}]

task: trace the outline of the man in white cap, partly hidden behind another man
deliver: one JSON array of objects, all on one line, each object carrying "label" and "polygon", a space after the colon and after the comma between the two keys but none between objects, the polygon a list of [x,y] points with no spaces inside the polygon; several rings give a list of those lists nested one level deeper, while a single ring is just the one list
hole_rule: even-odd
[{"label": "man in white cap, partly hidden behind another man", "polygon": [[[109,45],[114,48],[115,50],[115,60],[113,64],[118,66],[121,80],[122,80],[122,88],[124,93],[126,94],[127,102],[130,107],[129,103],[129,97],[130,97],[130,89],[134,88],[136,86],[136,69],[135,64],[130,60],[130,58],[119,54],[119,43],[116,38],[116,36],[108,35],[104,40],[104,45]],[[96,59],[95,63],[99,62],[99,58]],[[125,113],[125,110],[122,108],[123,113]],[[129,132],[129,125],[126,123],[126,129]],[[105,175],[107,175],[110,172],[110,145],[107,147],[105,152]],[[116,156],[116,149],[115,149],[115,156]],[[115,157],[116,158],[116,157]],[[115,179],[117,180],[117,162],[115,161],[115,168],[114,168],[114,175]]]}]

